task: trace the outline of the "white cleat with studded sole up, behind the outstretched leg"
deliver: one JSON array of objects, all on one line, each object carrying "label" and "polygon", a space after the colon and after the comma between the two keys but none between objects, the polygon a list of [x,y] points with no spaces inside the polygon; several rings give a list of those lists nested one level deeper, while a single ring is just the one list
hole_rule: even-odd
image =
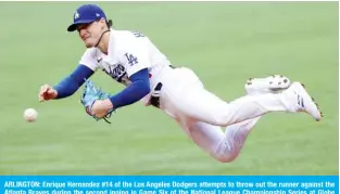
[{"label": "white cleat with studded sole up, behind the outstretched leg", "polygon": [[248,94],[256,93],[278,93],[290,86],[289,78],[282,75],[273,75],[266,78],[250,78],[245,82]]}]

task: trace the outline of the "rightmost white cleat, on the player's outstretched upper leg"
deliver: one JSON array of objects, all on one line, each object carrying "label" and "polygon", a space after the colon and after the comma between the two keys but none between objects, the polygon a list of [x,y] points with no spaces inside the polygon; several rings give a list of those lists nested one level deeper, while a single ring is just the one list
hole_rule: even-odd
[{"label": "rightmost white cleat, on the player's outstretched upper leg", "polygon": [[287,92],[292,91],[297,95],[295,112],[305,112],[310,114],[316,121],[319,121],[323,117],[323,113],[319,111],[318,104],[307,93],[305,87],[301,82],[293,82]]}]

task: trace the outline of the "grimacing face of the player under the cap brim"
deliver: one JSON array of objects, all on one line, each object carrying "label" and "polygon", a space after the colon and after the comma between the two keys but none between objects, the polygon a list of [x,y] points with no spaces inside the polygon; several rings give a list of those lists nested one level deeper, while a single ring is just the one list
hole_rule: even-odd
[{"label": "grimacing face of the player under the cap brim", "polygon": [[84,41],[86,48],[97,46],[102,31],[101,22],[92,22],[90,24],[81,24],[77,27],[80,39]]}]

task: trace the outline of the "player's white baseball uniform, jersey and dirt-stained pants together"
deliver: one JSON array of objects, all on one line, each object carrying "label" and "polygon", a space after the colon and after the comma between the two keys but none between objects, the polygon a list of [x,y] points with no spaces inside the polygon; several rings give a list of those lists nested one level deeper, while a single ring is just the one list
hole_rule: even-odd
[{"label": "player's white baseball uniform, jersey and dirt-stained pants together", "polygon": [[[292,98],[288,94],[245,95],[228,104],[206,91],[191,69],[172,68],[166,56],[139,33],[111,29],[108,54],[97,48],[88,49],[80,64],[92,70],[102,69],[126,86],[129,76],[149,68],[151,93],[142,102],[150,105],[154,88],[161,82],[160,108],[219,161],[236,158],[261,115],[295,111],[287,100]],[[226,127],[225,133],[219,126]]]}]

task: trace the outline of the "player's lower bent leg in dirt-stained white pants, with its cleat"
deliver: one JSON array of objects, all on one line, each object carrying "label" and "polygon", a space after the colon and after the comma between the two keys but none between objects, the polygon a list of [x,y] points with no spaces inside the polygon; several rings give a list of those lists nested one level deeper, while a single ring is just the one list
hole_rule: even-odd
[{"label": "player's lower bent leg in dirt-stained white pants, with its cleat", "polygon": [[[249,95],[261,93],[276,93],[278,90],[286,90],[290,86],[290,80],[287,79],[288,78],[282,76],[252,79],[251,87],[249,87],[248,82],[248,85],[245,85],[245,90]],[[193,79],[191,79],[191,81]],[[280,82],[285,82],[287,85],[281,85]],[[185,86],[185,82],[181,86]],[[199,86],[198,88],[202,88],[200,83],[197,86]],[[181,90],[180,87],[179,90]],[[167,98],[165,99],[168,100],[168,96],[171,95],[167,95]],[[213,98],[216,96],[213,95]],[[216,98],[215,100],[221,101],[218,98]],[[211,156],[213,156],[215,159],[222,163],[230,163],[239,155],[241,148],[244,145],[247,137],[260,119],[259,116],[238,124],[229,125],[227,126],[224,133],[221,127],[187,118],[186,114],[178,112],[172,101],[166,102],[167,103],[163,103],[163,107],[165,105],[165,111],[172,113],[169,114],[172,116],[176,115],[176,113],[179,113],[176,115],[177,122],[182,129],[185,129],[185,131],[192,139],[192,141],[198,144],[202,150],[207,152]]]}]

